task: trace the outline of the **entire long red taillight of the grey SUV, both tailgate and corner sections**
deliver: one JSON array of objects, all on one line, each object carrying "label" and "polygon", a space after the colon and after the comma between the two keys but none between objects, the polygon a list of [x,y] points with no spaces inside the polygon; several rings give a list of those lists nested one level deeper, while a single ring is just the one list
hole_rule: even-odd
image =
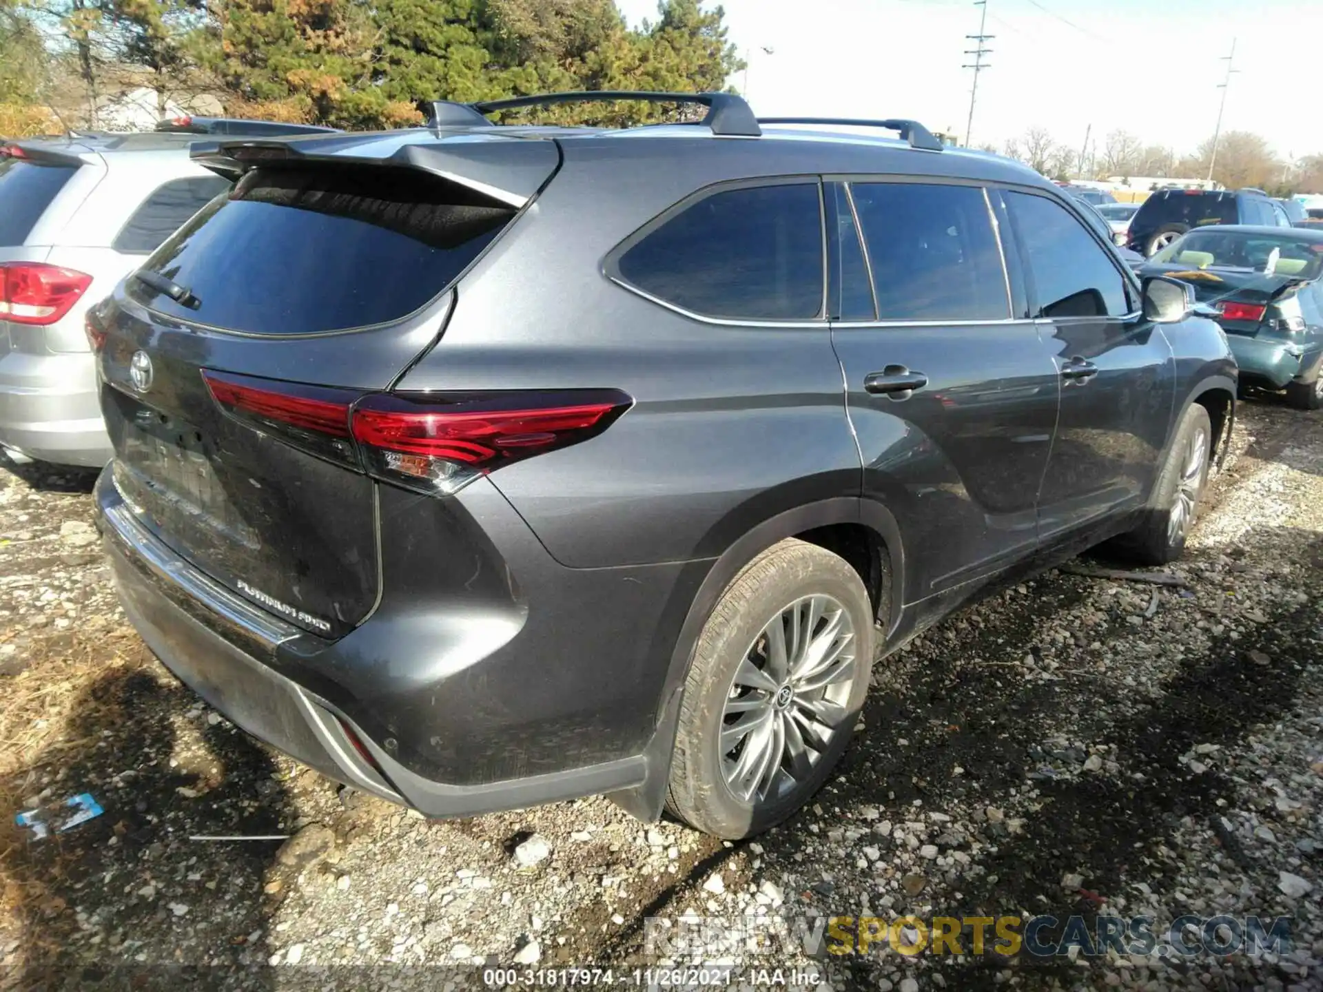
[{"label": "entire long red taillight of the grey SUV, both tailgate and corner sections", "polygon": [[429,493],[597,436],[634,402],[615,389],[398,394],[204,370],[225,413],[294,447]]}]

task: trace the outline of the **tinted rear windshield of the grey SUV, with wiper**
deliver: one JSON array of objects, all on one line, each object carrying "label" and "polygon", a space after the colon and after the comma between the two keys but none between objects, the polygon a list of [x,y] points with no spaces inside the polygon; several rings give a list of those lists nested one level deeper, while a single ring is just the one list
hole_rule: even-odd
[{"label": "tinted rear windshield of the grey SUV, with wiper", "polygon": [[189,306],[139,279],[127,291],[163,313],[246,333],[368,327],[434,299],[513,216],[411,169],[257,169],[147,259]]}]

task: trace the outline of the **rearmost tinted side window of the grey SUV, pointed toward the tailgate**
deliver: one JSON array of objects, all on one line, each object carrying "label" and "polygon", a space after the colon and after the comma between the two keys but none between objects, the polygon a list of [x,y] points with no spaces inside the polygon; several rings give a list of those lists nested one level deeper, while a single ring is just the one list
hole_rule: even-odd
[{"label": "rearmost tinted side window of the grey SUV, pointed toward the tailgate", "polygon": [[626,249],[617,270],[648,295],[704,316],[816,317],[823,304],[818,184],[706,196]]}]

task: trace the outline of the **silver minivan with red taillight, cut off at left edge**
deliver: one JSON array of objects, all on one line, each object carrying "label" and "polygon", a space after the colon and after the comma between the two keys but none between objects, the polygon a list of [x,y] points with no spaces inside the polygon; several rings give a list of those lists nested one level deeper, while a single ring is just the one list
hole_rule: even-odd
[{"label": "silver minivan with red taillight, cut off at left edge", "polygon": [[83,317],[229,181],[196,135],[0,144],[0,447],[15,460],[112,455]]}]

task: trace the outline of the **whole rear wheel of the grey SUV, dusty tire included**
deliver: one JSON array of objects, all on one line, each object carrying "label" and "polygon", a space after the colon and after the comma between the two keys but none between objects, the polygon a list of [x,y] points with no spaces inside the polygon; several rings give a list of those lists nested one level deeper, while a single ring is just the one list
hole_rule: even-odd
[{"label": "whole rear wheel of the grey SUV, dusty tire included", "polygon": [[[802,630],[808,635],[796,636]],[[796,652],[796,641],[804,651]],[[806,663],[798,679],[796,655]],[[822,787],[849,743],[872,661],[873,606],[853,567],[796,540],[759,554],[721,594],[699,636],[667,808],[725,840],[785,820]],[[790,677],[771,677],[778,669]],[[828,717],[831,729],[814,713]]]}]

